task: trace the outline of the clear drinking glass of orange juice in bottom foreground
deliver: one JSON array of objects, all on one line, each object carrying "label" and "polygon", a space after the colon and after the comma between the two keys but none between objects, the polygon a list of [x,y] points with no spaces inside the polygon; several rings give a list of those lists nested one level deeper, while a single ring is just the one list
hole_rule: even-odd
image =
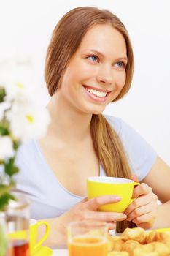
[{"label": "clear drinking glass of orange juice in bottom foreground", "polygon": [[69,256],[107,256],[108,224],[93,220],[72,222],[67,228]]}]

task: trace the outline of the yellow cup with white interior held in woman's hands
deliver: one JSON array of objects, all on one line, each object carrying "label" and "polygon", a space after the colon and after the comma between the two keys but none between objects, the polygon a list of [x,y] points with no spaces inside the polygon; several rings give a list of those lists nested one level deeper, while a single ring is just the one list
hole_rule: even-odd
[{"label": "yellow cup with white interior held in woman's hands", "polygon": [[87,179],[88,199],[101,195],[117,195],[121,198],[119,202],[100,206],[98,211],[123,212],[134,200],[132,194],[135,185],[139,185],[139,182],[128,178],[89,177]]}]

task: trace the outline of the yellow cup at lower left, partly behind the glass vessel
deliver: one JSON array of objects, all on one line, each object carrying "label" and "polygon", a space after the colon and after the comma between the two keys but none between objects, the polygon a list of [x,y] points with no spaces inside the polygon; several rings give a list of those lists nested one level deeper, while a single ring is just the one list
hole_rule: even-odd
[{"label": "yellow cup at lower left, partly behind the glass vessel", "polygon": [[[45,233],[42,234],[42,238],[40,238],[39,241],[37,241],[38,229],[42,225],[45,225]],[[34,224],[30,225],[30,227],[29,227],[29,246],[30,246],[31,254],[36,252],[36,250],[39,248],[39,246],[41,246],[42,243],[47,239],[49,232],[50,232],[50,226],[47,222],[34,221]],[[27,230],[15,231],[14,233],[9,234],[9,238],[13,241],[25,240],[28,238],[28,231]]]}]

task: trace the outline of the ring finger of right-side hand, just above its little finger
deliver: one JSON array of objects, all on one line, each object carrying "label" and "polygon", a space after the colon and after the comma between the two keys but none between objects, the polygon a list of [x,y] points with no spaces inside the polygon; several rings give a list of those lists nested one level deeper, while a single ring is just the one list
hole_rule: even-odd
[{"label": "ring finger of right-side hand, just above its little finger", "polygon": [[131,222],[133,219],[136,219],[136,217],[139,217],[144,214],[149,214],[155,208],[155,203],[148,203],[146,206],[136,208],[134,209],[134,211],[131,211],[131,214],[128,214],[127,220]]}]

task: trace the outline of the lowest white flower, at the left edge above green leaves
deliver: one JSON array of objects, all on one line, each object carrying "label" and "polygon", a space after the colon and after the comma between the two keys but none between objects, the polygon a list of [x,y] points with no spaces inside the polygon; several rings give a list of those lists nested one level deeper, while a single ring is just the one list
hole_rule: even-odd
[{"label": "lowest white flower, at the left edge above green leaves", "polygon": [[13,157],[15,151],[12,146],[12,140],[9,136],[0,136],[0,160]]}]

